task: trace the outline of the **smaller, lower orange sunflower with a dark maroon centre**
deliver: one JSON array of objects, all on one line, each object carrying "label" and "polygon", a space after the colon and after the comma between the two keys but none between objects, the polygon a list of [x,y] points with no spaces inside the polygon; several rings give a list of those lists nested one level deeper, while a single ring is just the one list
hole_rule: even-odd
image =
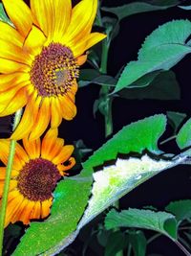
[{"label": "smaller, lower orange sunflower with a dark maroon centre", "polygon": [[[49,216],[53,189],[75,163],[71,157],[74,146],[63,145],[64,140],[57,138],[57,128],[48,130],[42,142],[24,138],[23,147],[16,144],[5,226],[15,221],[29,224],[32,219]],[[1,139],[0,149],[0,159],[7,165],[10,140]],[[5,175],[6,167],[1,167],[0,197]]]}]

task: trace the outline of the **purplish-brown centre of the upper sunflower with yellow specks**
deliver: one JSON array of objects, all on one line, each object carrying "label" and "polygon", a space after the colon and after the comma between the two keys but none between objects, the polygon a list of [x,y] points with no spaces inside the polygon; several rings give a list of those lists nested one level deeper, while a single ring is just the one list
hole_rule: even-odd
[{"label": "purplish-brown centre of the upper sunflower with yellow specks", "polygon": [[51,43],[34,58],[30,75],[38,95],[51,97],[70,90],[78,73],[72,51],[60,43]]}]

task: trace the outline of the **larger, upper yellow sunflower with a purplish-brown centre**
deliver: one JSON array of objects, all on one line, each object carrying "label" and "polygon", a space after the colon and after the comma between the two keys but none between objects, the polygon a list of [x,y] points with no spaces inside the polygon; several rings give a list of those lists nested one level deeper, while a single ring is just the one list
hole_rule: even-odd
[{"label": "larger, upper yellow sunflower with a purplish-brown centre", "polygon": [[34,140],[74,118],[79,66],[106,35],[91,33],[97,0],[2,2],[12,26],[0,21],[0,116],[25,106],[11,139]]}]

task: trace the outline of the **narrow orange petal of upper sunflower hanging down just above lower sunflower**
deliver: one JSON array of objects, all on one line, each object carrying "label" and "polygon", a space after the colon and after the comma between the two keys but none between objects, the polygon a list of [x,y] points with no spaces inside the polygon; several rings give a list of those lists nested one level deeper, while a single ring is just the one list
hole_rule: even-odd
[{"label": "narrow orange petal of upper sunflower hanging down just above lower sunflower", "polygon": [[38,111],[32,133],[30,134],[30,140],[39,138],[45,129],[48,127],[51,118],[50,99],[44,98],[42,105]]}]

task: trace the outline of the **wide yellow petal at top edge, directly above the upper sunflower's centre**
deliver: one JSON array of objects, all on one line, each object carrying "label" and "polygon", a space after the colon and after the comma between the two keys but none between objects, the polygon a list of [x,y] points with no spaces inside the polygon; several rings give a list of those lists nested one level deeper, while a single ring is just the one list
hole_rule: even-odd
[{"label": "wide yellow petal at top edge, directly above the upper sunflower's centre", "polygon": [[64,34],[69,26],[71,0],[31,0],[31,8],[40,28],[50,39]]}]

